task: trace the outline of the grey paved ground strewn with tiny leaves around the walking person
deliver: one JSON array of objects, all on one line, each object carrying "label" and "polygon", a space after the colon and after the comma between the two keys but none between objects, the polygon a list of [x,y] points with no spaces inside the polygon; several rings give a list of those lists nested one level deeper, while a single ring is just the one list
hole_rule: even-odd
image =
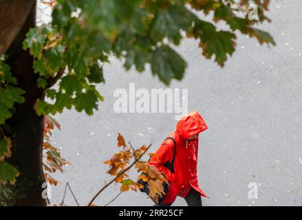
[{"label": "grey paved ground strewn with tiny leaves around the walking person", "polygon": [[[302,205],[302,5],[300,1],[273,1],[268,30],[276,47],[260,46],[239,37],[237,51],[223,69],[205,60],[196,41],[183,41],[177,51],[188,62],[182,82],[188,88],[188,109],[199,111],[209,129],[199,136],[199,184],[211,199],[204,206]],[[55,118],[62,125],[53,142],[72,162],[61,182],[52,188],[54,203],[61,202],[68,181],[81,205],[111,179],[103,164],[116,150],[120,132],[133,144],[159,146],[176,121],[171,113],[115,113],[115,89],[165,88],[150,72],[125,72],[121,62],[105,65],[107,83],[100,85],[105,102],[89,117],[65,111]],[[149,129],[148,129],[149,128]],[[139,134],[141,133],[141,134]],[[248,199],[248,183],[259,185],[258,199]],[[118,193],[111,186],[96,203],[102,205]],[[67,192],[67,205],[75,205]],[[140,192],[122,194],[112,206],[151,206]],[[175,206],[186,205],[184,199]]]}]

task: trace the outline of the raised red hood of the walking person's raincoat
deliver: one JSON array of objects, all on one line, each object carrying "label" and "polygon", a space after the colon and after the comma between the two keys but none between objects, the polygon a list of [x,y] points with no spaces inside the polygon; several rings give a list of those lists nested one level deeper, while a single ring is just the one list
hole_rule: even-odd
[{"label": "raised red hood of the walking person's raincoat", "polygon": [[208,129],[206,122],[195,110],[180,118],[176,125],[176,133],[183,140],[187,140],[188,137],[197,135],[206,129]]}]

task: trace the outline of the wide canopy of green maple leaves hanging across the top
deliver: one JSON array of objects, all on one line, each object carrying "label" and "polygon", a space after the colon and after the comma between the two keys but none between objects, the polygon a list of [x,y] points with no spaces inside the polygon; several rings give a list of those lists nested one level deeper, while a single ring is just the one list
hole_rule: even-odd
[{"label": "wide canopy of green maple leaves hanging across the top", "polygon": [[[103,65],[109,55],[122,59],[126,69],[136,67],[139,72],[149,64],[153,75],[169,85],[173,78],[184,76],[186,62],[172,47],[180,44],[184,34],[197,39],[202,54],[221,66],[235,51],[237,30],[274,45],[270,34],[253,27],[270,21],[264,15],[269,1],[255,3],[257,21],[248,19],[246,0],[51,1],[52,23],[31,30],[23,44],[34,56],[39,86],[53,100],[52,104],[37,100],[37,113],[74,107],[92,114],[103,100],[95,84],[105,83]],[[200,19],[199,12],[212,17],[213,23]],[[217,30],[218,22],[229,28]],[[57,82],[58,87],[50,89]]]}]

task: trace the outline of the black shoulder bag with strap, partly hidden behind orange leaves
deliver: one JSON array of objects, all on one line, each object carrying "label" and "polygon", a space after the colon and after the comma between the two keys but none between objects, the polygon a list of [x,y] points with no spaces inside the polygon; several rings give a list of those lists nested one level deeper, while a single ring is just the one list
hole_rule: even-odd
[{"label": "black shoulder bag with strap, partly hidden behind orange leaves", "polygon": [[[174,160],[175,160],[175,155],[176,155],[176,141],[175,141],[175,139],[173,138],[173,137],[166,137],[166,140],[167,139],[170,139],[170,140],[173,140],[173,142],[174,142],[174,154],[173,154],[173,159],[172,159],[172,162],[170,163],[169,161],[167,161],[165,164],[164,164],[164,166],[166,166],[166,168],[169,168],[169,170],[172,172],[172,173],[175,173],[175,170],[174,170]],[[144,174],[144,173],[142,173],[142,174]],[[143,186],[144,186],[144,188],[140,188],[140,191],[141,192],[145,192],[145,193],[147,193],[147,195],[149,195],[149,186],[148,186],[148,182],[147,181],[143,181],[142,179],[139,179],[138,180],[138,184],[142,184]],[[157,203],[157,204],[160,204],[160,203],[162,203],[162,201],[164,200],[164,197],[165,197],[165,195],[166,195],[166,192],[168,192],[168,190],[169,190],[169,185],[166,183],[166,182],[164,182],[163,184],[162,184],[162,186],[163,186],[163,188],[164,188],[164,195],[163,196],[160,196],[160,195],[158,195],[158,201],[156,202],[153,198],[151,198],[153,201],[154,201],[154,203]]]}]

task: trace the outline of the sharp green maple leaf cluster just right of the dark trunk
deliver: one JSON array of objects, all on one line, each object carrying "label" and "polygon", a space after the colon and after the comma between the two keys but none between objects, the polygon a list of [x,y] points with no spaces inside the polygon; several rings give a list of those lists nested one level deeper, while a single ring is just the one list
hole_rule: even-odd
[{"label": "sharp green maple leaf cluster just right of the dark trunk", "polygon": [[[93,83],[103,82],[103,70],[91,58],[85,58],[74,47],[63,45],[62,37],[48,26],[30,30],[23,43],[34,56],[34,69],[41,76],[39,86],[53,104],[37,100],[39,115],[62,112],[75,107],[89,115],[97,109],[97,102],[103,100]],[[63,76],[64,75],[64,76]],[[60,79],[58,89],[50,89]]]}]

